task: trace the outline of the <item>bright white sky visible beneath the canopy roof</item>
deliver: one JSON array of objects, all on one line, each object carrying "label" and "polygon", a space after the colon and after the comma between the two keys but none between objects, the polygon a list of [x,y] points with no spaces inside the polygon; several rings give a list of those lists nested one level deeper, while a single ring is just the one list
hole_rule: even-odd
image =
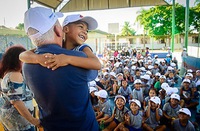
[{"label": "bright white sky visible beneath the canopy roof", "polygon": [[[181,4],[185,3],[185,0],[178,1]],[[190,0],[190,5],[192,5],[193,3],[194,0]],[[34,2],[31,7],[35,6],[40,5]],[[148,9],[150,7],[142,8]],[[0,25],[15,28],[19,23],[23,23],[24,12],[26,10],[27,0],[0,0]],[[98,21],[98,29],[108,32],[108,23],[119,23],[119,28],[121,29],[124,25],[124,22],[128,21],[133,28],[137,28],[137,24],[135,24],[135,19],[138,15],[137,12],[139,10],[141,10],[141,7],[65,13],[64,16],[77,13],[83,16],[91,16]],[[60,19],[61,23],[63,19]]]}]

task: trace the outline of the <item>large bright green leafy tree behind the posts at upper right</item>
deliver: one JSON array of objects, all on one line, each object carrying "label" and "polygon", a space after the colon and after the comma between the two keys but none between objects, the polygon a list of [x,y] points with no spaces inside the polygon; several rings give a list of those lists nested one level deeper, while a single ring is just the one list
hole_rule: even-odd
[{"label": "large bright green leafy tree behind the posts at upper right", "polygon": [[[189,25],[199,25],[199,6],[190,8]],[[156,39],[171,36],[172,33],[172,6],[156,6],[149,10],[142,9],[136,19],[148,35]],[[195,20],[195,21],[194,21]],[[180,4],[175,5],[175,34],[184,33],[185,31],[185,7]]]}]

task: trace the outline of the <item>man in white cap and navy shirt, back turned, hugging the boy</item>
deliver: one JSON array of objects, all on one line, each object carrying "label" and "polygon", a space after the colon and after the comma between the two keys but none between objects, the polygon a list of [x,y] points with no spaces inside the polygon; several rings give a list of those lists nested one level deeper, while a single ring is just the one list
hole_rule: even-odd
[{"label": "man in white cap and navy shirt, back turned, hugging the boy", "polygon": [[[62,46],[60,13],[43,7],[30,8],[25,13],[24,27],[37,46],[36,53],[66,54],[87,57],[82,52]],[[39,64],[24,64],[23,76],[40,107],[44,130],[98,131],[98,123],[89,99],[88,70],[67,65],[55,71]]]}]

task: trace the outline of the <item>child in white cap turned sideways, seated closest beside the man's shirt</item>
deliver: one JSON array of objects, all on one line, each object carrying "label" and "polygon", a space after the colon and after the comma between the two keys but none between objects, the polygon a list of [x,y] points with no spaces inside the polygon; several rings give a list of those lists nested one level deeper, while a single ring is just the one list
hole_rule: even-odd
[{"label": "child in white cap turned sideways, seated closest beside the man's shirt", "polygon": [[94,93],[99,99],[95,110],[97,111],[96,119],[98,122],[107,120],[111,116],[111,107],[107,99],[108,93],[106,90],[100,90]]}]

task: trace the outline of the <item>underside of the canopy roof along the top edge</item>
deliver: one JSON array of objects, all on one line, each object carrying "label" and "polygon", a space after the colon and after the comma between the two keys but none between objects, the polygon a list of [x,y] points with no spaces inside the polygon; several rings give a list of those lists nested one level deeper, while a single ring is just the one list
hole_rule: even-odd
[{"label": "underside of the canopy roof along the top edge", "polygon": [[104,10],[127,7],[167,5],[167,0],[33,0],[44,6],[58,8],[64,3],[60,11],[63,13],[87,10]]}]

